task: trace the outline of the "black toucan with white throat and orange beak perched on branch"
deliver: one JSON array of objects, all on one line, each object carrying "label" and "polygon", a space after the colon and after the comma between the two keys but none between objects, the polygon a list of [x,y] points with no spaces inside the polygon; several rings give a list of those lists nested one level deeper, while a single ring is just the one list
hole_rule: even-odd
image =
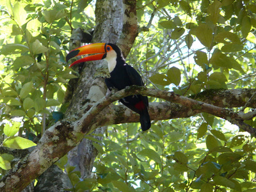
[{"label": "black toucan with white throat and orange beak perched on branch", "polygon": [[[125,62],[121,49],[115,44],[88,44],[73,51],[66,56],[66,61],[84,54],[93,54],[81,58],[70,65],[85,61],[106,60],[108,61],[108,69],[110,78],[105,79],[106,86],[111,90],[122,90],[126,86],[138,85],[145,86],[140,74],[131,65]],[[131,95],[120,99],[120,102],[127,108],[140,114],[140,124],[142,131],[150,128],[150,116],[148,115],[148,97],[143,95]]]}]

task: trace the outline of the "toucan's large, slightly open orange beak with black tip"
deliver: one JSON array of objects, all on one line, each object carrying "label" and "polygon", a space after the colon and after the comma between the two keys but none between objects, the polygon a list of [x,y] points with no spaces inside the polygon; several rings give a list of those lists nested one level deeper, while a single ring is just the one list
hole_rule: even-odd
[{"label": "toucan's large, slightly open orange beak with black tip", "polygon": [[[94,55],[86,56],[84,58],[81,58],[80,60],[75,61],[69,66],[69,68],[72,67],[73,65],[76,65],[77,63],[82,63],[85,61],[103,60],[106,57],[105,55],[106,45],[107,44],[104,44],[104,43],[89,44],[89,45],[78,47],[77,49],[70,51],[66,56],[66,61],[83,54],[94,54]],[[98,53],[98,54],[95,54],[95,53]]]}]

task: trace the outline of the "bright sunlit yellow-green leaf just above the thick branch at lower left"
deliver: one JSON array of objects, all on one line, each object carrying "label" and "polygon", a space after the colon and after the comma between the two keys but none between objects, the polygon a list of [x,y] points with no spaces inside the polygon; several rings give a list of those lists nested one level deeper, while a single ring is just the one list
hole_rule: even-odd
[{"label": "bright sunlit yellow-green leaf just above the thick branch at lower left", "polygon": [[19,136],[12,136],[4,140],[3,146],[15,149],[23,149],[33,147],[36,144],[33,141],[21,138]]}]

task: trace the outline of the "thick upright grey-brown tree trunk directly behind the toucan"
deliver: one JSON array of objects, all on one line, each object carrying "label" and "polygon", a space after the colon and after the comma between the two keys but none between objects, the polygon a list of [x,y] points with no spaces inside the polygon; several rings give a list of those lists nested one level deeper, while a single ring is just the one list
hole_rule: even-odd
[{"label": "thick upright grey-brown tree trunk directly behind the toucan", "polygon": [[[93,42],[116,44],[122,32],[123,12],[122,0],[97,1],[95,9],[97,26],[93,33]],[[81,111],[82,108],[85,113],[90,109],[89,106],[106,95],[107,88],[104,83],[104,77],[108,74],[106,62],[84,63],[84,65],[66,116]],[[93,132],[93,137],[102,140],[102,137],[97,134],[102,135],[104,131],[106,131],[106,127],[97,128]],[[77,147],[68,152],[68,163],[71,166],[76,166],[76,170],[81,172],[82,178],[88,178],[92,173],[93,161],[96,156],[97,150],[93,147],[92,140],[84,138]]]}]

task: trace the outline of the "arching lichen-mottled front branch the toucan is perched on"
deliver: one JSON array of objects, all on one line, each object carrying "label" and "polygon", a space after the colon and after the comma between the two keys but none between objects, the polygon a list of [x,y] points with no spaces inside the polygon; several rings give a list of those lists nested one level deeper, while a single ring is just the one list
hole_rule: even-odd
[{"label": "arching lichen-mottled front branch the toucan is perched on", "polygon": [[[228,91],[230,92],[230,90]],[[234,90],[234,92],[238,91]],[[244,90],[240,90],[240,92],[244,92]],[[252,92],[253,94],[255,90],[247,90],[247,92]],[[28,156],[24,157],[24,159],[19,161],[19,163],[17,163],[15,167],[3,177],[0,182],[0,191],[17,191],[24,189],[26,186],[28,186],[31,180],[38,177],[47,168],[49,168],[51,164],[58,161],[58,159],[67,154],[69,150],[74,148],[77,143],[83,139],[84,134],[90,132],[92,129],[95,129],[98,126],[113,124],[113,120],[108,120],[108,122],[106,122],[106,119],[102,117],[102,115],[102,120],[99,120],[98,115],[100,115],[100,112],[104,108],[108,107],[109,104],[115,100],[139,93],[182,104],[183,106],[179,107],[180,109],[186,109],[187,116],[195,115],[196,113],[201,112],[220,116],[221,118],[228,120],[232,124],[238,125],[244,131],[248,131],[255,136],[255,129],[250,125],[245,124],[243,119],[241,119],[239,115],[230,109],[220,108],[202,101],[176,95],[173,92],[130,86],[124,90],[120,90],[116,93],[111,93],[110,95],[103,97],[99,100],[99,102],[95,103],[92,108],[90,108],[79,120],[72,122],[71,119],[74,119],[76,115],[68,116],[68,118],[65,118],[65,120],[57,122],[52,127],[47,129],[41,140],[38,142],[38,145],[36,145],[32,152],[28,154]],[[252,100],[251,104],[253,106],[256,104],[255,99]],[[152,120],[163,119],[161,115],[166,113],[166,110],[169,114],[175,114],[175,111],[172,111],[173,108],[169,107],[168,109],[165,109],[163,108],[164,105],[172,106],[173,104],[168,104],[168,102],[164,102],[163,105],[162,103],[157,104],[159,113],[155,112],[152,114],[152,107],[150,108],[150,116]],[[178,105],[175,104],[174,106]],[[243,106],[243,103],[241,106]],[[166,118],[166,116],[164,116],[164,118]],[[138,119],[136,119],[136,121],[137,120]],[[116,120],[115,123],[120,122],[122,122],[122,120]],[[29,177],[24,177],[24,175],[28,175],[28,173]]]}]

